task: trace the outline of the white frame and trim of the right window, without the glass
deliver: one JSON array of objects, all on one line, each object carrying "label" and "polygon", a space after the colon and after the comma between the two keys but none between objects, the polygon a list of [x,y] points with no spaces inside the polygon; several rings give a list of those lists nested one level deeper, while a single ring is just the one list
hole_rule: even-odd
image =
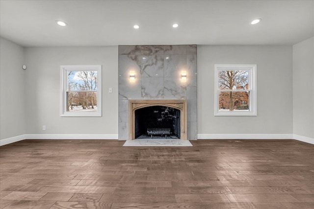
[{"label": "white frame and trim of the right window, without the glass", "polygon": [[[249,111],[219,111],[219,91],[247,92],[247,90],[219,90],[219,70],[248,70],[249,71]],[[257,116],[257,65],[215,65],[214,76],[214,116]]]}]

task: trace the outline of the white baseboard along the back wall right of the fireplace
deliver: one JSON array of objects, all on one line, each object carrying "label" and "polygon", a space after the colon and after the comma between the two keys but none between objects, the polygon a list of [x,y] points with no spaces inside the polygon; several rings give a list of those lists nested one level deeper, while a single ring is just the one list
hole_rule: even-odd
[{"label": "white baseboard along the back wall right of the fireplace", "polygon": [[197,139],[293,139],[293,134],[198,134]]}]

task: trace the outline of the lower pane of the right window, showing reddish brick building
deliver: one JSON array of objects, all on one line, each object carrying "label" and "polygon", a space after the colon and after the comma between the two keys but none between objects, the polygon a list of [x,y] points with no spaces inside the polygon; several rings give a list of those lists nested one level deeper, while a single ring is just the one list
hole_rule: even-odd
[{"label": "lower pane of the right window, showing reddish brick building", "polygon": [[249,111],[250,92],[219,92],[219,111]]}]

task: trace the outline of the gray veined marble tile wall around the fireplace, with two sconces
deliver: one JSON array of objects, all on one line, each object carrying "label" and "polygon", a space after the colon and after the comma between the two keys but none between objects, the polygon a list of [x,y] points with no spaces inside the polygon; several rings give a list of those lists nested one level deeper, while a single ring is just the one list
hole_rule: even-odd
[{"label": "gray veined marble tile wall around the fireplace, with two sconces", "polygon": [[[186,82],[181,78],[183,70]],[[197,139],[196,45],[119,46],[121,140],[129,139],[129,99],[186,99],[187,139]]]}]

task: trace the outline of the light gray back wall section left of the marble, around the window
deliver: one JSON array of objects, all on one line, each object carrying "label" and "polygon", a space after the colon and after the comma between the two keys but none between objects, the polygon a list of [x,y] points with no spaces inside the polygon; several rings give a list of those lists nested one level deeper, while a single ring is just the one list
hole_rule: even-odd
[{"label": "light gray back wall section left of the marble, around the window", "polygon": [[[117,54],[118,46],[26,48],[27,134],[118,134]],[[102,65],[102,117],[60,117],[60,65]]]}]

